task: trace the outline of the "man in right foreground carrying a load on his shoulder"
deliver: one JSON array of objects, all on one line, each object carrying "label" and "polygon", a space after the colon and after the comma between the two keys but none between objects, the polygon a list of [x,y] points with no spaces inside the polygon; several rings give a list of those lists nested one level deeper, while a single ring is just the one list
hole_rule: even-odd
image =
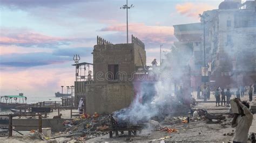
[{"label": "man in right foreground carrying a load on his shoulder", "polygon": [[233,142],[247,142],[253,115],[249,110],[250,105],[247,102],[240,102],[239,99],[235,99],[235,102],[239,105],[241,113],[235,113],[231,123],[231,127],[235,127]]}]

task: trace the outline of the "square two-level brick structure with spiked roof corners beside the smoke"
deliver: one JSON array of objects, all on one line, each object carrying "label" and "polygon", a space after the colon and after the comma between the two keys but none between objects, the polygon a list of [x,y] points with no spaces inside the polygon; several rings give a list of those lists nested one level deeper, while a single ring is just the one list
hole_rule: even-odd
[{"label": "square two-level brick structure with spiked roof corners beside the smoke", "polygon": [[98,37],[93,83],[85,85],[86,112],[111,113],[128,107],[134,97],[132,74],[145,64],[145,46],[138,38],[132,36],[130,44],[111,44]]}]

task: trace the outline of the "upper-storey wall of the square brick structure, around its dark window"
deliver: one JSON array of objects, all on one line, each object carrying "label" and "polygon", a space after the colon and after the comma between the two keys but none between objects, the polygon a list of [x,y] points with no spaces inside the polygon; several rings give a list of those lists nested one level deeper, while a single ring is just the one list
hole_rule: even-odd
[{"label": "upper-storey wall of the square brick structure, around its dark window", "polygon": [[[95,83],[109,83],[106,80],[108,65],[118,65],[118,71],[130,78],[136,66],[146,65],[146,52],[137,44],[95,45],[93,49],[93,77]],[[103,73],[103,80],[96,74]],[[126,82],[120,80],[120,82]]]}]

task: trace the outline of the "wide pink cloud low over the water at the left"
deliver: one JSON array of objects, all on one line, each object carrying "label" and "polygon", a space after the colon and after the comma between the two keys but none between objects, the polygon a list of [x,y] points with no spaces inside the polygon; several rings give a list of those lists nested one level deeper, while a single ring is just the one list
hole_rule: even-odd
[{"label": "wide pink cloud low over the water at the left", "polygon": [[[60,86],[73,85],[75,76],[73,76],[72,67],[68,68],[44,68],[29,69],[22,71],[1,71],[0,89],[1,94],[18,94],[32,96],[54,96],[54,93],[61,90]],[[64,78],[65,77],[65,78]],[[16,91],[20,89],[21,91]]]}]

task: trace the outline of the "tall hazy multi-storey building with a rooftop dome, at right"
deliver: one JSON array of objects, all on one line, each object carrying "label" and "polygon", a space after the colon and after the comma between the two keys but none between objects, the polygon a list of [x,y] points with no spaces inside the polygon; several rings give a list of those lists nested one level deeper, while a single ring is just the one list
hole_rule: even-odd
[{"label": "tall hazy multi-storey building with a rooftop dome, at right", "polygon": [[[203,12],[201,18],[201,28],[205,24],[205,48],[206,63],[208,63],[210,81],[215,86],[223,88],[237,87],[239,85],[250,85],[256,81],[256,2],[247,1],[241,3],[239,0],[224,1],[219,4],[219,9]],[[185,24],[190,26],[191,24]],[[179,25],[180,26],[180,25]],[[193,26],[191,26],[193,28]],[[187,37],[185,33],[190,32],[192,42],[194,65],[203,66],[204,58],[204,38],[203,34],[198,34],[198,41],[193,40],[195,35],[190,30],[186,30],[182,35],[177,35],[179,31],[174,25],[174,35],[179,42],[183,42],[180,37]],[[196,42],[202,43],[200,50],[195,46]],[[175,45],[175,43],[174,43]],[[178,46],[176,44],[176,46]],[[179,46],[178,46],[179,47]],[[197,53],[202,53],[197,55]],[[198,63],[198,64],[197,64]],[[198,67],[198,69],[200,69]],[[192,73],[192,86],[196,88],[201,84],[201,79],[196,75],[200,71]]]}]

